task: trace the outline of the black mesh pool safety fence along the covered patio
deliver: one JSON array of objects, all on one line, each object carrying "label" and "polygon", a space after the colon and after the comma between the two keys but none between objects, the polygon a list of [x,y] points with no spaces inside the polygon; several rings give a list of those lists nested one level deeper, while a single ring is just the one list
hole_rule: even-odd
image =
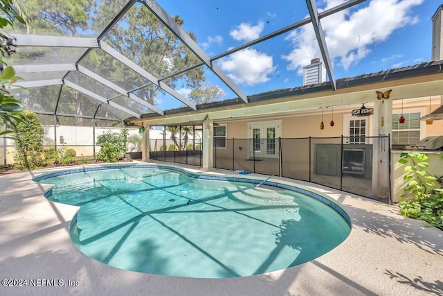
[{"label": "black mesh pool safety fence along the covered patio", "polygon": [[390,203],[390,137],[226,139],[214,166],[289,177]]}]

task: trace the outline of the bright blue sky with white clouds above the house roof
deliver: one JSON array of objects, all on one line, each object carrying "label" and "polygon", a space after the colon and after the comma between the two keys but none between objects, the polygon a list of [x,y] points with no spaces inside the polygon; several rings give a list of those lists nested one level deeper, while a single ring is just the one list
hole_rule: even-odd
[{"label": "bright blue sky with white clouds above the house roof", "polygon": [[[317,1],[318,10],[343,0]],[[305,1],[159,0],[212,57],[308,16]],[[335,78],[431,60],[435,0],[367,0],[321,19]],[[246,95],[302,85],[302,67],[321,58],[311,24],[217,60]],[[235,94],[207,71],[207,83]],[[189,89],[178,89],[186,96]],[[168,100],[169,101],[169,100]],[[162,104],[163,105],[163,104]],[[161,106],[168,109],[169,106]]]}]

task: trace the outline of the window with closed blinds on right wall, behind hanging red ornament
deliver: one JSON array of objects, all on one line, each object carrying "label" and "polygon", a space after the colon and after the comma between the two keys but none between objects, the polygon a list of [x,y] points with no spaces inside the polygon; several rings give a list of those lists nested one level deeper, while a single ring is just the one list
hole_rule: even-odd
[{"label": "window with closed blinds on right wall, behind hanging red ornament", "polygon": [[404,113],[404,123],[399,123],[401,114],[392,114],[392,145],[416,145],[420,141],[420,112]]}]

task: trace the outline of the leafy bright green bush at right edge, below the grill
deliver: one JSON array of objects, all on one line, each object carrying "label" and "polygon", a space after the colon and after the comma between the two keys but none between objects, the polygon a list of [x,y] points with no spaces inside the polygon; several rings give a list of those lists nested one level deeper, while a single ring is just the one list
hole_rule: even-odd
[{"label": "leafy bright green bush at right edge, below the grill", "polygon": [[[443,177],[435,177],[426,171],[428,155],[424,153],[401,153],[399,164],[408,164],[404,170],[404,187],[399,202],[400,213],[421,219],[443,230]],[[440,154],[443,160],[443,155]],[[440,166],[443,165],[443,162]]]}]

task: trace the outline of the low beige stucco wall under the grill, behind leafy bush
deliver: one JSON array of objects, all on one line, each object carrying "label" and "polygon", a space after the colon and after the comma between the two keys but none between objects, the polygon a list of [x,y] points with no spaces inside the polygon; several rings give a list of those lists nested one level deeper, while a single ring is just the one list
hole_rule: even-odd
[{"label": "low beige stucco wall under the grill, behind leafy bush", "polygon": [[[410,151],[392,151],[392,159],[391,159],[391,186],[392,186],[392,202],[399,202],[401,200],[400,195],[403,193],[403,188],[406,186],[407,182],[403,180],[404,175],[406,175],[404,168],[408,164],[398,164],[397,162],[400,159],[400,155],[403,152],[410,152]],[[428,162],[429,167],[426,168],[426,171],[430,173],[431,175],[435,175],[437,177],[440,177],[443,175],[443,160],[441,159],[441,156],[438,155],[437,152],[428,151],[426,152],[428,155],[428,159],[426,159],[426,162]]]}]

